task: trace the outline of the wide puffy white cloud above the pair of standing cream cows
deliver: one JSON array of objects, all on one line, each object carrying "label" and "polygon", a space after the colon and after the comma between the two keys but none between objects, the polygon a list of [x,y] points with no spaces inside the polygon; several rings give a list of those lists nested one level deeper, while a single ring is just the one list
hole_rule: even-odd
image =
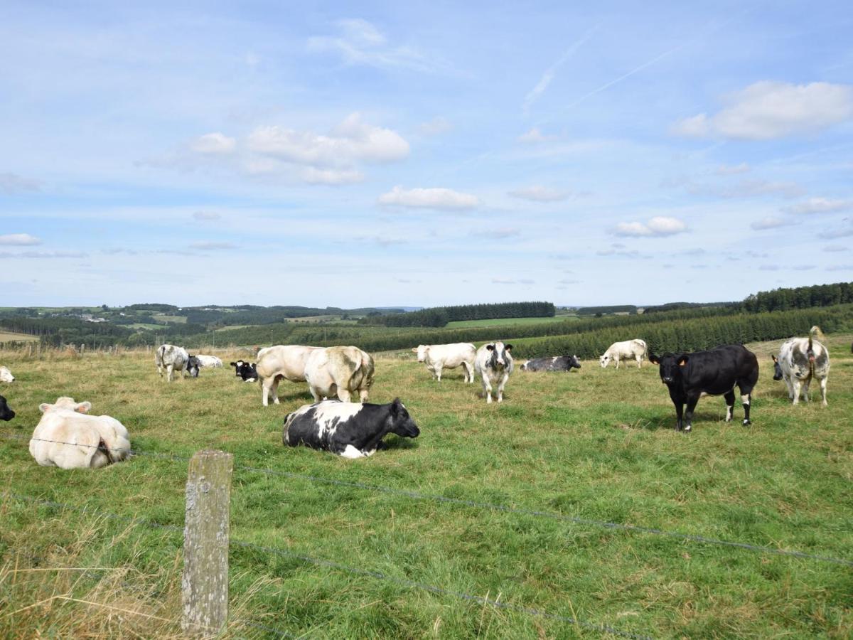
[{"label": "wide puffy white cloud above the pair of standing cream cows", "polygon": [[247,148],[310,166],[392,162],[409,155],[409,143],[396,131],[363,123],[359,113],[351,113],[328,136],[276,125],[258,127],[249,134]]}]

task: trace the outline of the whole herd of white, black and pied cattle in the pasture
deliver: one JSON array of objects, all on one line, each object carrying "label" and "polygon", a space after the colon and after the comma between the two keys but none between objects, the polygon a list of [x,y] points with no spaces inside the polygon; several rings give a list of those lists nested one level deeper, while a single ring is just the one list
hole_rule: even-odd
[{"label": "whole herd of white, black and pied cattle in the pasture", "polygon": [[[829,353],[812,327],[807,338],[786,340],[779,356],[773,356],[774,380],[784,380],[788,397],[798,404],[800,395],[809,400],[809,383],[819,381],[821,399],[827,405]],[[464,380],[479,375],[487,403],[496,386],[497,402],[514,371],[512,345],[490,342],[479,349],[472,344],[419,345],[412,349],[418,362],[426,364],[435,381],[441,381],[444,369],[464,370]],[[741,345],[724,345],[708,351],[666,353],[656,356],[643,340],[612,344],[601,355],[601,367],[611,361],[618,369],[620,361],[642,360],[659,365],[661,381],[668,387],[676,408],[676,429],[690,431],[693,410],[703,395],[722,395],[726,402],[726,422],[734,413],[734,388],[740,391],[744,409],[743,423],[750,422],[752,389],[758,380],[758,360]],[[202,368],[222,367],[214,356],[192,356],[183,347],[162,345],[154,354],[154,363],[162,377],[174,380],[175,371],[197,377]],[[260,381],[261,402],[279,404],[278,385],[282,380],[306,382],[314,404],[305,404],[288,414],[282,441],[285,445],[306,445],[332,451],[339,456],[368,457],[381,448],[388,433],[416,438],[420,429],[400,399],[389,404],[368,404],[374,381],[374,359],[356,346],[270,346],[258,351],[256,362],[230,363],[243,381]],[[577,356],[555,356],[526,360],[527,371],[569,371],[581,366]],[[0,381],[15,381],[6,367],[0,367]],[[357,395],[357,402],[351,402]],[[685,413],[685,405],[687,411]],[[30,453],[42,466],[59,468],[100,468],[130,455],[131,441],[125,426],[110,416],[90,416],[91,404],[62,397],[55,404],[40,404],[43,416],[30,440]],[[15,411],[0,396],[0,420],[9,421]]]}]

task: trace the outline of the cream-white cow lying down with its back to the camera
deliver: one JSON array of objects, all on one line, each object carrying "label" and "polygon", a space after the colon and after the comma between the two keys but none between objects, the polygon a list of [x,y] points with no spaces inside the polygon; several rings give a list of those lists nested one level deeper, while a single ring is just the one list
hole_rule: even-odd
[{"label": "cream-white cow lying down with its back to the camera", "polygon": [[110,416],[88,416],[92,405],[73,398],[40,404],[44,414],[32,432],[30,454],[43,467],[101,468],[131,453],[125,425]]}]

